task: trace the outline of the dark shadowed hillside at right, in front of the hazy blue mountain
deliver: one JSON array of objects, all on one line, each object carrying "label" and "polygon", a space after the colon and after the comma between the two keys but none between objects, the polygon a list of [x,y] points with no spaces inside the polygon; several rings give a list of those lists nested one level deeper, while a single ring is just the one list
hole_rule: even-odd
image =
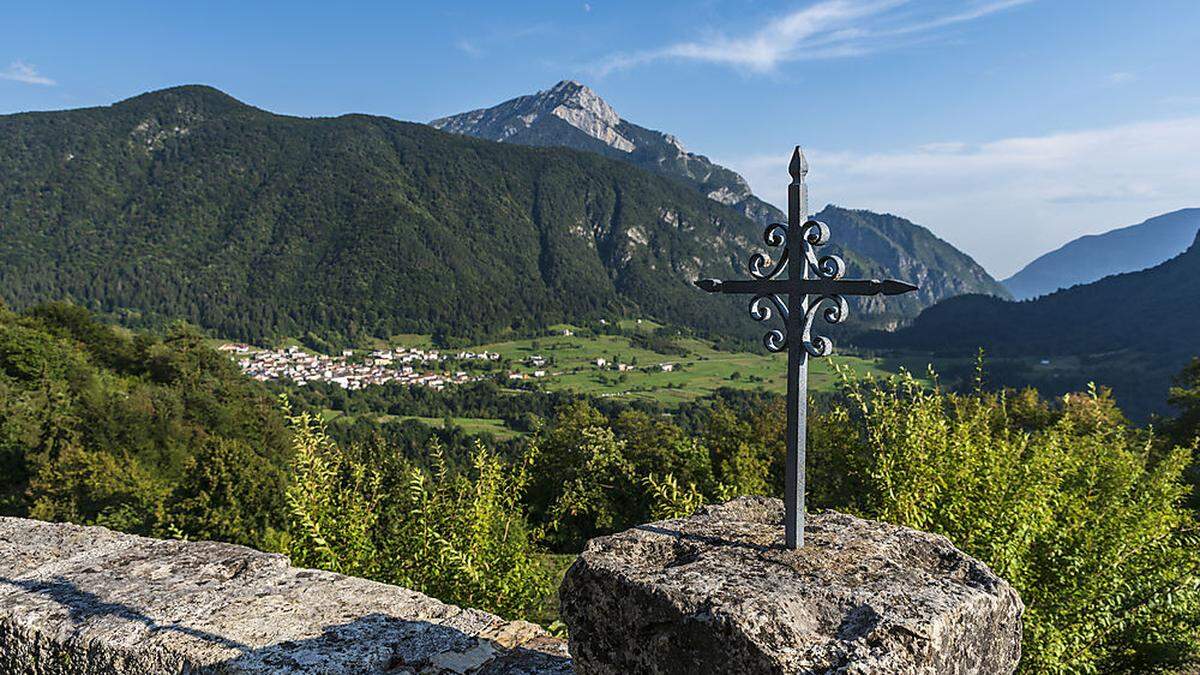
[{"label": "dark shadowed hillside at right, in front of the hazy blue mountain", "polygon": [[[1163,411],[1172,375],[1200,354],[1200,234],[1178,256],[1140,271],[1115,274],[1033,300],[983,295],[943,300],[912,325],[862,338],[870,346],[962,357],[1036,359],[1007,384],[1043,393],[1112,387],[1135,418]],[[1074,364],[1074,365],[1072,365]],[[1008,366],[1006,366],[1008,368]]]}]

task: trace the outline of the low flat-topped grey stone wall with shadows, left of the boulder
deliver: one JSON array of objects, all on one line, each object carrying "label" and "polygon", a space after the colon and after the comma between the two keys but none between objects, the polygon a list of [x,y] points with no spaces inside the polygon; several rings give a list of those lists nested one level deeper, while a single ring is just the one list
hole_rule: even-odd
[{"label": "low flat-topped grey stone wall with shadows, left of the boulder", "polygon": [[281,555],[0,518],[0,673],[566,674],[541,628]]}]

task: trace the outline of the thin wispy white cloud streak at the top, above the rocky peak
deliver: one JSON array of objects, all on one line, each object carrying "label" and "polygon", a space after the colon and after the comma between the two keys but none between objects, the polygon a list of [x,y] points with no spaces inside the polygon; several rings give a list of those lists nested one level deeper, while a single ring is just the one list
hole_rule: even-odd
[{"label": "thin wispy white cloud streak at the top, above the rocky peak", "polygon": [[790,61],[859,56],[905,44],[912,36],[974,20],[1033,0],[959,2],[930,13],[912,0],[822,0],[774,17],[745,35],[709,31],[702,40],[611,54],[588,68],[596,76],[654,61],[703,61],[769,72]]}]

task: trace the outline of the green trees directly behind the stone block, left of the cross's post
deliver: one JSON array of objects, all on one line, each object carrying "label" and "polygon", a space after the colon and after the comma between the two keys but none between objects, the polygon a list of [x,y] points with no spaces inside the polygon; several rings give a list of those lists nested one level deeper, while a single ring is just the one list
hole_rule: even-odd
[{"label": "green trees directly behind the stone block, left of the cross's post", "polygon": [[773,446],[746,436],[749,423],[720,401],[710,405],[695,432],[661,414],[565,406],[533,441],[530,516],[551,548],[578,551],[592,537],[704,502],[772,494]]}]

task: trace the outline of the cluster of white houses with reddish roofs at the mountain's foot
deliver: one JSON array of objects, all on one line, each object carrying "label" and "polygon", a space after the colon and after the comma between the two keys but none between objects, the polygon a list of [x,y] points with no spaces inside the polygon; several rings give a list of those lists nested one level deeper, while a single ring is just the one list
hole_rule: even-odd
[{"label": "cluster of white houses with reddish roofs at the mountain's foot", "polygon": [[340,357],[314,354],[290,346],[282,350],[259,350],[240,342],[229,342],[218,351],[236,359],[241,371],[260,382],[287,380],[304,387],[310,382],[329,382],[343,389],[361,389],[371,384],[400,382],[432,389],[446,384],[462,384],[481,380],[464,370],[454,372],[432,366],[442,366],[451,358],[455,362],[498,362],[496,352],[458,352],[448,356],[437,350],[396,348],[376,350],[356,357],[353,350],[343,350]]}]

